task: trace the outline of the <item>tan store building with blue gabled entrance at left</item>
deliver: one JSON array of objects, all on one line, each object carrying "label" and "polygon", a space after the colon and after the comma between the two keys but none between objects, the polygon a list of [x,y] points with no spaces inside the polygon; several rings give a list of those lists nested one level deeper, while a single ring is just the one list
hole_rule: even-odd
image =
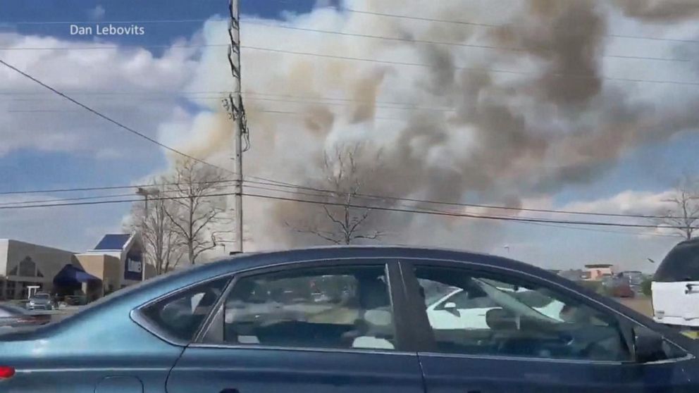
[{"label": "tan store building with blue gabled entrance at left", "polygon": [[136,235],[104,235],[82,254],[0,239],[0,299],[27,299],[34,292],[97,299],[155,275],[143,263]]}]

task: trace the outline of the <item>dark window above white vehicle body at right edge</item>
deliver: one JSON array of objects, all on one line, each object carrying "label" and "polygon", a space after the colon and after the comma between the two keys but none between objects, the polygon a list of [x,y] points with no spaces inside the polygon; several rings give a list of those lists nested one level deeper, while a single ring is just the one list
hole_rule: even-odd
[{"label": "dark window above white vehicle body at right edge", "polygon": [[653,281],[699,281],[699,241],[677,244],[658,266]]}]

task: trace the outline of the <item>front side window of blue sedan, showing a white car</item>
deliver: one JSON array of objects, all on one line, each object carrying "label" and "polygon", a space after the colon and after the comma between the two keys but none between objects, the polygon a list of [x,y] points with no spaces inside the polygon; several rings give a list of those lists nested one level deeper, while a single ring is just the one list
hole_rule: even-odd
[{"label": "front side window of blue sedan, showing a white car", "polygon": [[631,360],[614,316],[559,291],[517,277],[492,277],[462,269],[418,266],[415,273],[423,292],[426,287],[448,289],[479,305],[460,307],[463,301],[450,301],[445,307],[449,292],[441,298],[425,296],[427,318],[440,352]]}]

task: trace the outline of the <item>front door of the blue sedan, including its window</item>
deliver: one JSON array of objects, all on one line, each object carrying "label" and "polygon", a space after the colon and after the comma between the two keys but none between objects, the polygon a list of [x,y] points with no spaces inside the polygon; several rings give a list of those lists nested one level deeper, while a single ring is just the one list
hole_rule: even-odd
[{"label": "front door of the blue sedan, including its window", "polygon": [[[683,365],[695,365],[688,352],[664,342],[662,357],[638,363],[629,331],[642,326],[554,282],[443,261],[402,260],[400,268],[412,324],[424,335],[426,393],[699,391],[683,372]],[[497,304],[485,316],[487,328],[434,328],[421,293],[438,285]],[[556,309],[559,318],[547,315]]]}]

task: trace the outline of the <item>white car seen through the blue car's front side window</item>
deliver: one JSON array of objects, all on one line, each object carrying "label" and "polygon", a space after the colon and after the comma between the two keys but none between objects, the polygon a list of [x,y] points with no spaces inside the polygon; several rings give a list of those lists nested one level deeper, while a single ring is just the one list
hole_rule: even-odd
[{"label": "white car seen through the blue car's front side window", "polygon": [[[536,294],[536,291],[524,288],[514,290],[510,288],[493,287],[493,289],[502,292],[506,297],[512,297],[512,300],[519,303],[520,307],[528,307],[526,301],[521,300],[522,294],[526,294],[526,292]],[[519,296],[512,296],[514,294]],[[505,299],[507,299],[506,297]],[[485,314],[495,308],[502,308],[495,303],[493,299],[493,296],[469,299],[468,293],[464,292],[463,289],[453,289],[444,297],[441,297],[427,307],[427,318],[430,320],[430,325],[438,330],[489,329],[488,323],[485,320]],[[547,300],[548,304],[543,306],[531,306],[531,309],[553,320],[562,320],[561,311],[563,310],[564,304],[555,299],[548,298]]]}]

